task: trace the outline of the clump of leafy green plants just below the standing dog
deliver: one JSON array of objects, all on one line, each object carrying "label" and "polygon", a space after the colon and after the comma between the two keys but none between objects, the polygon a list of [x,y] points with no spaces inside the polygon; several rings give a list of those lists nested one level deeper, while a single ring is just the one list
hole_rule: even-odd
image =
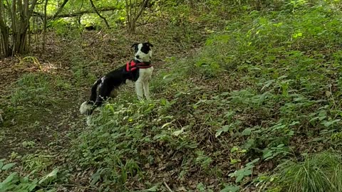
[{"label": "clump of leafy green plants just below the standing dog", "polygon": [[[76,141],[73,154],[78,163],[97,169],[92,186],[102,181],[100,188],[123,190],[128,178],[144,179],[144,166],[158,163],[155,154],[160,149],[154,144],[162,143],[170,151],[188,152],[197,146],[173,124],[172,115],[166,113],[172,105],[169,102],[116,101],[115,105],[105,105],[100,116],[93,119],[96,126]],[[162,111],[165,113],[158,115]]]}]

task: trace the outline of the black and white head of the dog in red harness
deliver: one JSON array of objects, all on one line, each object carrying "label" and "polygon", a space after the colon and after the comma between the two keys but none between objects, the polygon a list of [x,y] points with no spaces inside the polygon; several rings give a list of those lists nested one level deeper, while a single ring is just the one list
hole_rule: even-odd
[{"label": "black and white head of the dog in red harness", "polygon": [[134,57],[140,62],[150,62],[152,58],[152,48],[153,45],[149,42],[146,43],[134,43],[132,48],[134,48]]}]

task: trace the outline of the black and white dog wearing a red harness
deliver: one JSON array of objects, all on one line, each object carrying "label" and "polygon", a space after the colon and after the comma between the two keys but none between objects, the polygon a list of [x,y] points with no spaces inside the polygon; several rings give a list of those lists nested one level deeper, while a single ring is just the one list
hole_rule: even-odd
[{"label": "black and white dog wearing a red harness", "polygon": [[100,107],[105,100],[116,95],[116,90],[120,85],[125,84],[126,80],[135,82],[135,92],[139,100],[143,99],[143,92],[145,98],[149,100],[149,80],[153,71],[151,47],[153,47],[152,44],[148,42],[133,44],[132,48],[135,52],[133,60],[96,80],[91,87],[90,100],[83,102],[80,107],[81,114],[87,114],[90,117],[96,107]]}]

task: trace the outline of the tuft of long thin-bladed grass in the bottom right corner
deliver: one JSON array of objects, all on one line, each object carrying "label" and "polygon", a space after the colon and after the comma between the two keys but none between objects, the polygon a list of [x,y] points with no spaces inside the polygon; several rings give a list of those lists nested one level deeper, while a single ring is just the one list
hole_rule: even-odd
[{"label": "tuft of long thin-bladed grass in the bottom right corner", "polygon": [[304,161],[280,164],[279,185],[286,191],[341,191],[341,155],[320,153],[304,156]]}]

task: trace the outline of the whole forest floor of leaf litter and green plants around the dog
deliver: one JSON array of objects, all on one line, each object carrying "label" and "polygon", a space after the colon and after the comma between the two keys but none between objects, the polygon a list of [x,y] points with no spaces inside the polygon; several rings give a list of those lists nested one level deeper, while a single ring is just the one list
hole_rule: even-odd
[{"label": "whole forest floor of leaf litter and green plants around the dog", "polygon": [[[286,191],[284,161],[330,151],[341,162],[341,13],[324,10],[158,18],[131,36],[58,28],[45,50],[33,38],[29,55],[0,60],[0,181],[16,171],[43,191]],[[152,101],[125,85],[88,127],[78,109],[91,85],[142,41]]]}]

